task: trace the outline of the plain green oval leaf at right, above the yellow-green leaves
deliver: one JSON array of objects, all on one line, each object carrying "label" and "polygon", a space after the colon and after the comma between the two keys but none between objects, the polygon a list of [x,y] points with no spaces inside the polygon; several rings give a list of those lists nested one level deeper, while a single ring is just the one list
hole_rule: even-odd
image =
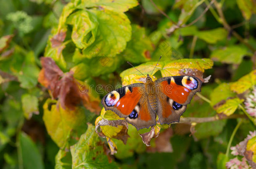
[{"label": "plain green oval leaf at right, above the yellow-green leaves", "polygon": [[[210,57],[214,61],[222,63],[241,63],[243,56],[248,55],[247,48],[241,45],[228,46],[223,49],[216,49],[212,51]],[[250,55],[250,54],[249,54]]]}]

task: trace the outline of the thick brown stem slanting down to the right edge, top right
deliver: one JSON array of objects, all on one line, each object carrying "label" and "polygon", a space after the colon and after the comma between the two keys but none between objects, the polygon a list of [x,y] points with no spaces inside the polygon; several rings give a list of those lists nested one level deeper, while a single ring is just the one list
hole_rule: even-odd
[{"label": "thick brown stem slanting down to the right edge, top right", "polygon": [[242,42],[243,44],[245,44],[253,53],[256,51],[253,46],[251,46],[246,40],[244,40],[238,33],[236,33],[235,31],[232,30],[232,28],[230,27],[230,25],[227,23],[225,16],[222,12],[221,9],[221,5],[214,1],[214,5],[217,9],[217,12],[219,14],[219,17],[221,18],[222,24],[224,26],[224,28],[228,31],[228,32],[232,32],[232,35],[235,36],[240,42]]}]

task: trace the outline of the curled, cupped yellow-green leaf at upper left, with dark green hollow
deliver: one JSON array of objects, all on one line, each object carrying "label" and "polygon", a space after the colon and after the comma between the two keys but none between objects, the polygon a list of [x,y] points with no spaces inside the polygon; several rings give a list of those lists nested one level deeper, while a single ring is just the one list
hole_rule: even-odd
[{"label": "curled, cupped yellow-green leaf at upper left, with dark green hollow", "polygon": [[99,24],[95,15],[78,10],[68,17],[66,23],[73,25],[71,38],[78,48],[87,48],[94,42]]}]

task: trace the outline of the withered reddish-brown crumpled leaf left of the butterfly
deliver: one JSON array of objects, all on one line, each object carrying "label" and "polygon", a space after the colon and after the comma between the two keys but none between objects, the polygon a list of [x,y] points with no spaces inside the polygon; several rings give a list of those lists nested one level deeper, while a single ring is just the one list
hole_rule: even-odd
[{"label": "withered reddish-brown crumpled leaf left of the butterfly", "polygon": [[91,112],[100,111],[99,102],[91,101],[86,86],[85,92],[79,91],[81,84],[73,77],[72,71],[63,73],[52,58],[42,57],[41,63],[38,81],[51,91],[53,98],[58,98],[63,108],[74,110],[82,102]]}]

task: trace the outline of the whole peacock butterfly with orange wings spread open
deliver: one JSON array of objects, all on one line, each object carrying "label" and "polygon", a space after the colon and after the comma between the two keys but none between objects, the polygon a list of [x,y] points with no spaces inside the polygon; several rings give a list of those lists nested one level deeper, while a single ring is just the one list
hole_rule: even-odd
[{"label": "whole peacock butterfly with orange wings spread open", "polygon": [[[159,59],[160,60],[160,59]],[[154,71],[154,70],[153,70]],[[201,91],[202,82],[193,76],[169,76],[146,83],[133,83],[111,91],[102,98],[105,110],[136,127],[137,130],[160,124],[179,122],[193,95]]]}]

